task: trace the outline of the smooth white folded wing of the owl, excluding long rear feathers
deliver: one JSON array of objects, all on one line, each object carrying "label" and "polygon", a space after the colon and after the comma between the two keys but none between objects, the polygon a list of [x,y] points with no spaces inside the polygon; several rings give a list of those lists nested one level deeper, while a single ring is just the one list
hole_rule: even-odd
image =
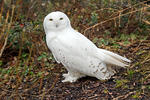
[{"label": "smooth white folded wing of the owl, excluding long rear feathers", "polygon": [[[81,33],[73,30],[69,34],[65,35],[62,40],[62,45],[66,46],[70,52],[70,55],[79,56],[83,58],[94,57],[97,53],[97,47],[89,39],[87,39]],[[63,44],[64,43],[64,44]]]}]

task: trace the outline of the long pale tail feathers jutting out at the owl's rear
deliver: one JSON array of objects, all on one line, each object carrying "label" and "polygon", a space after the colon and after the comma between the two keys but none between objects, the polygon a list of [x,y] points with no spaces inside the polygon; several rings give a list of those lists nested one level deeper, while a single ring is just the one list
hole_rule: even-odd
[{"label": "long pale tail feathers jutting out at the owl's rear", "polygon": [[104,61],[106,64],[109,65],[125,67],[129,66],[129,63],[131,62],[129,59],[125,57],[122,57],[118,54],[115,54],[113,52],[104,49],[98,49],[98,55],[102,61]]}]

